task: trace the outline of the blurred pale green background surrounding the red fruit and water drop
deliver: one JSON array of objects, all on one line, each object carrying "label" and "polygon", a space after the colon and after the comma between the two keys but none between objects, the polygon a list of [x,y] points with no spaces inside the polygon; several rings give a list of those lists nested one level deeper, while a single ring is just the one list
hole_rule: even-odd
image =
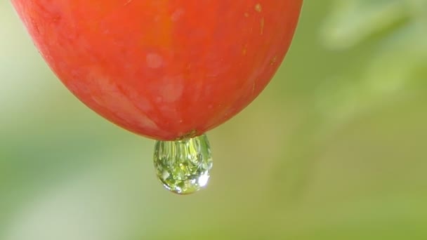
[{"label": "blurred pale green background surrounding the red fruit and water drop", "polygon": [[427,239],[427,1],[306,1],[280,72],[209,133],[209,187],[94,114],[0,2],[0,239]]}]

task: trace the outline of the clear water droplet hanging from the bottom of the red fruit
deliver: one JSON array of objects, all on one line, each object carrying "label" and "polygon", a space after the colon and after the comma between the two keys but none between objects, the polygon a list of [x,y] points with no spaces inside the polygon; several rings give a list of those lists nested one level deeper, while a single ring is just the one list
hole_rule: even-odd
[{"label": "clear water droplet hanging from the bottom of the red fruit", "polygon": [[176,141],[157,141],[154,164],[157,178],[171,192],[192,194],[206,187],[212,168],[206,135]]}]

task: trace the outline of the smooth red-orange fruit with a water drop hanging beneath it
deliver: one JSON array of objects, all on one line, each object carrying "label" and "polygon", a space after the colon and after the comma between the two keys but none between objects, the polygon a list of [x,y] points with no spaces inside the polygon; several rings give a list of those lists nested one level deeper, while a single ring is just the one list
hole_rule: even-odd
[{"label": "smooth red-orange fruit with a water drop hanging beneath it", "polygon": [[254,100],[302,0],[11,0],[74,95],[157,140],[200,135]]}]

